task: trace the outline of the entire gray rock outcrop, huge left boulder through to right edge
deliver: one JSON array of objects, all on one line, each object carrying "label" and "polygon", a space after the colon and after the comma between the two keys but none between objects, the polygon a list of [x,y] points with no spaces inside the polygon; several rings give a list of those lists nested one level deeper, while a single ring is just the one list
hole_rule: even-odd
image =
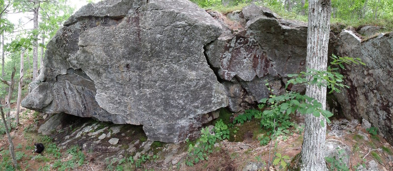
[{"label": "entire gray rock outcrop, huge left boulder through to right edge", "polygon": [[[343,73],[344,114],[366,119],[393,144],[393,38],[332,32],[330,51],[366,66]],[[307,24],[250,5],[227,15],[188,0],[104,0],[71,16],[48,43],[22,106],[143,125],[152,141],[179,143],[228,107],[242,112],[285,92],[305,71]],[[304,91],[304,87],[291,87]]]}]

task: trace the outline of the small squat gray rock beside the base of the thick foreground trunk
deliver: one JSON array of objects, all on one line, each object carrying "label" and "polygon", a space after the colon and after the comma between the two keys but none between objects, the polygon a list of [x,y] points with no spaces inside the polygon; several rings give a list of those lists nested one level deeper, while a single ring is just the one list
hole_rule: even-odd
[{"label": "small squat gray rock beside the base of the thick foreground trunk", "polygon": [[342,159],[342,162],[349,167],[351,154],[351,148],[342,142],[335,139],[326,140],[325,157],[336,157],[337,160]]}]

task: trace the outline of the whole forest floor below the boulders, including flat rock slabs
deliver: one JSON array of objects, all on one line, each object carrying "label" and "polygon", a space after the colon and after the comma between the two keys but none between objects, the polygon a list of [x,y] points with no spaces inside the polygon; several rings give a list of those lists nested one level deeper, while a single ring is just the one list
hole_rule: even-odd
[{"label": "whole forest floor below the boulders, including flat rock slabs", "polygon": [[[57,125],[56,131],[45,136],[37,130],[50,117],[24,109],[20,125],[11,131],[18,170],[285,171],[287,166],[291,165],[291,160],[300,153],[303,142],[302,127],[297,125],[271,143],[261,146],[258,137],[266,131],[260,128],[258,121],[252,120],[231,125],[229,139],[215,143],[212,153],[207,154],[208,160],[201,160],[190,167],[186,165],[186,161],[190,160],[188,149],[190,144],[193,146],[197,141],[187,141],[179,145],[150,142],[141,126],[69,117],[72,119]],[[228,120],[222,116],[218,120],[220,119]],[[333,124],[328,125],[327,129],[327,140],[338,140],[342,143],[340,147],[349,149],[346,152],[337,152],[344,155],[341,155],[342,158],[337,157],[335,161],[349,157],[347,167],[351,171],[356,171],[363,164],[364,168],[371,169],[370,167],[375,166],[370,165],[375,163],[377,171],[393,170],[393,148],[379,135],[369,134],[358,122],[344,119],[333,120]],[[104,134],[106,136],[103,138]],[[113,138],[119,140],[115,145],[108,143],[108,140]],[[32,152],[34,143],[45,145],[42,154]],[[379,150],[369,152],[372,149]],[[269,166],[269,163],[272,164]],[[329,166],[339,170],[337,164],[331,163]],[[5,134],[0,139],[0,168],[2,171],[13,170]]]}]

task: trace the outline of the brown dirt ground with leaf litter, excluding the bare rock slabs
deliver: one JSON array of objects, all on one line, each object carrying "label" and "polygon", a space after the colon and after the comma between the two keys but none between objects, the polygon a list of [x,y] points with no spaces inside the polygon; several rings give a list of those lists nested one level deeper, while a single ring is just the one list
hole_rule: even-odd
[{"label": "brown dirt ground with leaf litter, excluding the bare rock slabs", "polygon": [[[60,157],[56,157],[53,153],[45,151],[42,154],[33,153],[33,144],[37,142],[47,141],[47,136],[43,136],[37,133],[37,129],[40,124],[43,123],[42,114],[35,113],[34,111],[29,111],[24,109],[21,114],[21,124],[16,128],[13,128],[11,131],[11,137],[13,138],[13,143],[15,146],[15,151],[17,153],[17,157],[19,156],[18,163],[20,165],[20,171],[56,171],[60,170],[59,168],[54,169],[53,166],[56,163],[56,160],[61,162],[69,161],[73,156],[67,153],[67,149],[72,147],[75,144],[78,144],[77,141],[72,142],[65,147],[59,147],[59,151],[61,153]],[[79,123],[82,124],[82,123]],[[114,124],[113,124],[114,125]],[[105,123],[104,126],[111,126],[110,123]],[[104,127],[101,126],[101,127]],[[208,160],[204,160],[198,162],[192,167],[189,167],[185,164],[186,156],[187,156],[187,147],[189,144],[183,143],[180,145],[173,144],[162,144],[156,143],[155,145],[150,145],[149,150],[145,151],[146,155],[155,155],[157,156],[154,160],[147,160],[141,163],[139,168],[135,167],[135,163],[131,163],[128,160],[125,160],[124,163],[119,164],[119,160],[115,163],[108,163],[105,161],[105,158],[108,156],[115,155],[114,153],[103,153],[100,151],[83,151],[85,156],[84,162],[81,165],[75,165],[66,170],[73,171],[242,171],[245,167],[250,164],[254,164],[258,167],[259,170],[269,170],[269,171],[285,171],[286,168],[280,167],[280,165],[270,165],[269,163],[273,162],[276,158],[275,153],[280,153],[282,156],[286,155],[290,159],[284,159],[284,162],[287,165],[290,165],[291,160],[297,154],[300,153],[303,136],[299,130],[296,128],[291,128],[289,134],[285,134],[279,137],[276,141],[269,143],[266,146],[261,146],[257,137],[263,134],[264,132],[260,130],[259,123],[257,121],[245,122],[244,124],[237,124],[234,127],[238,127],[238,131],[236,134],[232,134],[231,138],[222,142],[218,142],[215,145],[213,153],[208,156]],[[328,126],[328,132],[331,127]],[[51,136],[53,140],[56,139],[55,144],[58,146],[66,134],[67,131],[73,131],[76,129],[76,126],[73,126],[72,123],[63,125],[62,131],[57,131],[54,135]],[[132,130],[135,129],[135,130]],[[141,135],[138,132],[138,127],[127,127],[126,129],[122,129],[122,132],[127,133],[127,130],[130,133],[134,134],[122,134],[122,136],[115,135],[115,137],[121,139],[121,144],[118,146],[120,149],[130,148],[130,144],[136,144],[135,152],[130,153],[121,153],[121,156],[125,159],[128,159],[130,156],[135,156],[136,151],[141,151],[143,145],[145,143],[140,143],[146,140],[145,135]],[[347,145],[351,148],[351,156],[350,156],[350,166],[351,171],[355,171],[356,168],[363,163],[367,163],[368,161],[375,160],[378,163],[378,166],[381,171],[393,171],[393,163],[392,163],[392,146],[389,145],[382,137],[380,136],[371,136],[367,133],[367,131],[361,127],[360,124],[356,125],[356,130],[360,130],[365,133],[368,138],[366,141],[356,132],[347,132],[343,137],[338,138],[340,142]],[[92,132],[92,131],[91,131]],[[57,138],[56,138],[57,137]],[[82,137],[84,139],[86,137]],[[337,139],[334,136],[327,136],[327,139]],[[138,141],[140,140],[140,141]],[[90,140],[88,140],[90,141]],[[103,146],[107,144],[103,144]],[[110,146],[108,144],[108,146]],[[373,155],[371,152],[368,153],[369,150],[374,150]],[[382,149],[384,148],[384,149]],[[82,147],[81,147],[82,149]],[[99,148],[103,149],[103,148]],[[0,155],[8,155],[6,151],[8,150],[8,141],[6,135],[2,135],[0,139]],[[48,150],[48,149],[46,149]],[[124,150],[123,150],[124,151]],[[368,153],[368,154],[367,154]],[[367,154],[367,155],[366,155]],[[366,155],[366,156],[365,156]],[[105,157],[103,157],[105,156]],[[365,156],[365,157],[364,157]],[[0,160],[4,162],[5,156],[0,156]],[[363,160],[364,157],[364,160]],[[0,161],[1,162],[1,161]],[[137,162],[136,160],[134,162]],[[111,165],[111,166],[109,166]],[[0,165],[4,166],[4,165]],[[122,166],[122,167],[117,167]],[[47,168],[45,168],[47,167]],[[2,170],[6,170],[6,168],[1,168]]]}]

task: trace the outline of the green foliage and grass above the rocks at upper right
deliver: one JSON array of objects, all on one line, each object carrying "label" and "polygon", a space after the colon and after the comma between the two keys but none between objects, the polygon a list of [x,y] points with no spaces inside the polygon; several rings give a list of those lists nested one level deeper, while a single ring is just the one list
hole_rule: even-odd
[{"label": "green foliage and grass above the rocks at upper right", "polygon": [[[211,9],[224,14],[241,10],[250,5],[253,0],[191,0],[205,9]],[[255,1],[255,0],[254,0]],[[288,3],[289,2],[289,3]],[[308,21],[308,0],[256,0],[256,5],[270,8],[281,18]],[[345,26],[377,25],[393,29],[393,1],[392,0],[332,0],[331,23],[341,23]],[[383,30],[381,30],[383,31]]]}]

